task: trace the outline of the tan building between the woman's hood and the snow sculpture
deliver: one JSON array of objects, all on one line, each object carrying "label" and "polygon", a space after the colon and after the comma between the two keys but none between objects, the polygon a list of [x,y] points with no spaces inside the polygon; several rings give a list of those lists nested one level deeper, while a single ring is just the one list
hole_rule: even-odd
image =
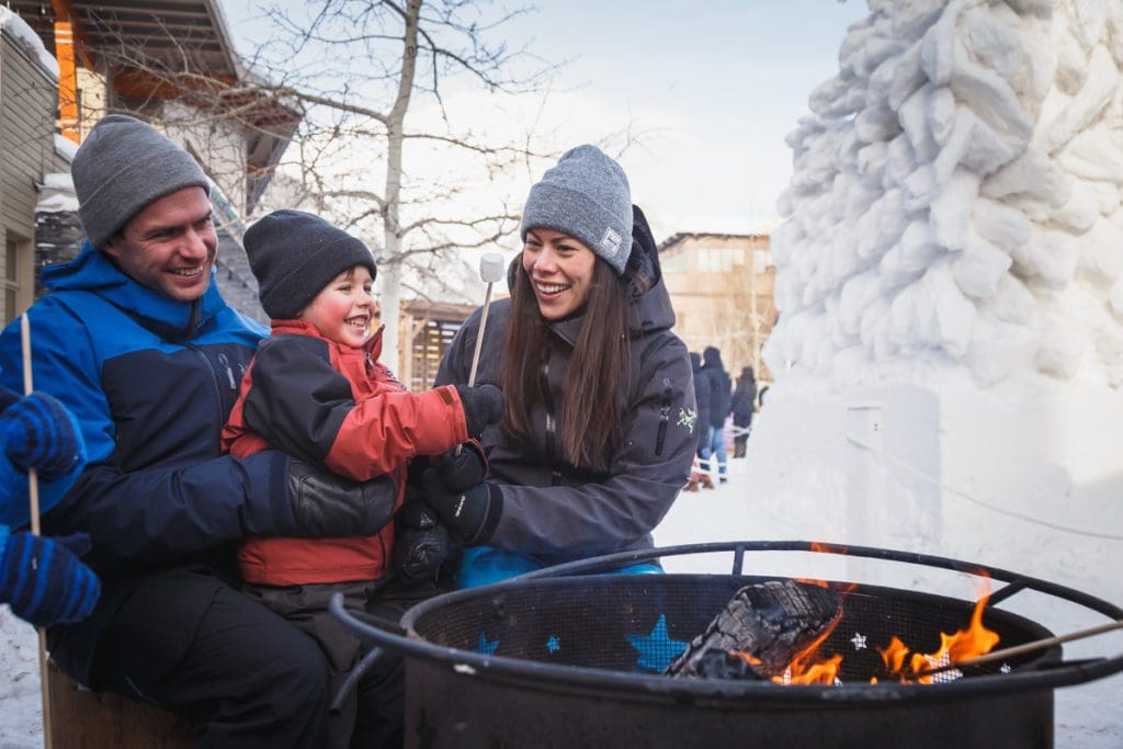
[{"label": "tan building between the woman's hood and the snow sculpture", "polygon": [[751,366],[758,378],[770,380],[760,357],[776,320],[767,235],[673,237],[660,247],[659,263],[675,332],[686,346],[699,353],[716,346],[734,375]]}]

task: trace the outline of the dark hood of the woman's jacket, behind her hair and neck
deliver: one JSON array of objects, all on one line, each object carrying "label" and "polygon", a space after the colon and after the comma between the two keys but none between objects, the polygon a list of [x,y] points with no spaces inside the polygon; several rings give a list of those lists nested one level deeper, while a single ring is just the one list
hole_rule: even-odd
[{"label": "dark hood of the woman's jacket, behind her hair and neck", "polygon": [[[506,268],[506,285],[514,290],[514,280],[522,256],[517,256]],[[670,295],[663,284],[663,268],[659,265],[659,249],[647,223],[647,217],[639,205],[632,205],[632,249],[623,274],[624,287],[631,298],[629,332],[632,336],[652,330],[669,330],[675,325],[675,310]],[[558,320],[550,327],[570,344],[581,332],[584,313]]]}]

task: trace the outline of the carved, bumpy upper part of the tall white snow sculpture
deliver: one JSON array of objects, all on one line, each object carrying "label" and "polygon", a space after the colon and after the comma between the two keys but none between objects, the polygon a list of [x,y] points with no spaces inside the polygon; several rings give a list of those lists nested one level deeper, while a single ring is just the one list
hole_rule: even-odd
[{"label": "carved, bumpy upper part of the tall white snow sculpture", "polygon": [[870,0],[788,136],[773,372],[1123,384],[1123,3]]}]

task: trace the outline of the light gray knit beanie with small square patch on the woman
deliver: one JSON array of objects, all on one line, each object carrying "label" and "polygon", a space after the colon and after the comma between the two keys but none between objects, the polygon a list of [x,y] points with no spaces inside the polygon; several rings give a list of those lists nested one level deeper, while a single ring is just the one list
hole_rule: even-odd
[{"label": "light gray knit beanie with small square patch on the woman", "polygon": [[596,146],[577,146],[530,189],[522,209],[522,239],[535,228],[563,231],[623,275],[631,253],[631,190],[620,164]]}]

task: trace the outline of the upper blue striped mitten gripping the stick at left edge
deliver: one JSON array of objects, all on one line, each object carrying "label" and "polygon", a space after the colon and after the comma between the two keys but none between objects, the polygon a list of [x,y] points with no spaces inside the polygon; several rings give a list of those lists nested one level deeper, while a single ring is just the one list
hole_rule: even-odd
[{"label": "upper blue striped mitten gripping the stick at left edge", "polygon": [[46,393],[31,393],[0,413],[0,440],[16,466],[35,468],[47,481],[65,476],[85,457],[74,415]]}]

